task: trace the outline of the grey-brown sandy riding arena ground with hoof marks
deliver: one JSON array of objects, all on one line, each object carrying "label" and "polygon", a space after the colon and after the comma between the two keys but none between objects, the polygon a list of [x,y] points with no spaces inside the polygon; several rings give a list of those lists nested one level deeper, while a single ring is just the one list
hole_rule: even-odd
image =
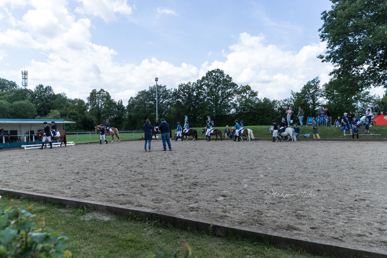
[{"label": "grey-brown sandy riding arena ground with hoof marks", "polygon": [[0,186],[387,248],[387,143],[172,148],[152,140],[152,152],[142,141],[10,150],[0,153]]}]

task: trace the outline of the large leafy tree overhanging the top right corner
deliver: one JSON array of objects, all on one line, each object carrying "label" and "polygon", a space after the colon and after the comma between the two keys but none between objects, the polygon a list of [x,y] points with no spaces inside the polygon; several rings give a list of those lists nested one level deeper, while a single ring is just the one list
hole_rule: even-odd
[{"label": "large leafy tree overhanging the top right corner", "polygon": [[321,14],[324,24],[319,29],[327,51],[318,57],[322,62],[333,63],[333,80],[350,78],[354,82],[353,95],[372,86],[387,87],[387,2],[331,1],[332,9]]}]

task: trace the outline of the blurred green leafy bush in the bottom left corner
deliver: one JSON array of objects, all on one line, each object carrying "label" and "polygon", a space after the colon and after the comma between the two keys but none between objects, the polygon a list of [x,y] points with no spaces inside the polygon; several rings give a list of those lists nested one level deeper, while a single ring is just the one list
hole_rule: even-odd
[{"label": "blurred green leafy bush in the bottom left corner", "polygon": [[57,232],[46,231],[44,218],[33,230],[34,217],[29,210],[15,205],[0,208],[0,257],[71,257],[70,251],[62,251],[67,246],[67,237]]}]

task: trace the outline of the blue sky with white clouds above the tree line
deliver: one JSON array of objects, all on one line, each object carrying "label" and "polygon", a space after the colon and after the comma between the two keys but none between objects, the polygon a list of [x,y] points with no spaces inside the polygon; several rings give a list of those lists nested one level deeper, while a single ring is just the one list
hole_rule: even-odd
[{"label": "blue sky with white clouds above the tree line", "polygon": [[328,0],[0,0],[0,77],[127,104],[149,85],[175,88],[220,68],[260,97],[283,99],[332,65],[318,29]]}]

